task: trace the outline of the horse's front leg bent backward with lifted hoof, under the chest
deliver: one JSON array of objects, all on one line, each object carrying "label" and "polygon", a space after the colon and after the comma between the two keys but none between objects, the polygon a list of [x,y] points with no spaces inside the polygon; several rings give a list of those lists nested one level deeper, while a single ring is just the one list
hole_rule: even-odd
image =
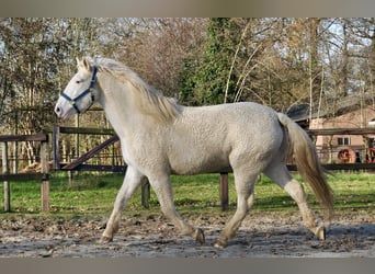
[{"label": "horse's front leg bent backward with lifted hoof, under the chest", "polygon": [[173,193],[172,186],[169,176],[163,175],[161,178],[151,179],[149,178],[150,185],[155,191],[158,201],[160,203],[160,208],[163,215],[173,222],[174,226],[178,227],[182,235],[191,236],[200,243],[205,243],[205,237],[203,230],[197,228],[195,229],[188,222],[185,222],[181,215],[175,210],[173,203]]}]

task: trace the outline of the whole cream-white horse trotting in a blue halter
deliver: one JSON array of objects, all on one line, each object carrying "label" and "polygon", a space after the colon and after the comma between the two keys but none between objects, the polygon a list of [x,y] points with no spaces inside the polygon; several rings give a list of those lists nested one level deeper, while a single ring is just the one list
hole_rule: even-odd
[{"label": "whole cream-white horse trotting in a blue halter", "polygon": [[197,174],[232,168],[237,210],[215,243],[227,246],[254,201],[254,182],[263,172],[298,204],[305,225],[319,239],[323,226],[310,210],[302,185],[292,178],[286,158],[297,168],[318,201],[331,213],[332,191],[326,182],[315,146],[307,134],[282,113],[257,103],[186,107],[163,96],[134,71],[112,59],[78,60],[78,72],[59,98],[55,112],[68,118],[99,102],[121,140],[127,163],[102,242],[113,240],[126,203],[148,178],[162,213],[183,235],[204,243],[202,229],[177,213],[171,174]]}]

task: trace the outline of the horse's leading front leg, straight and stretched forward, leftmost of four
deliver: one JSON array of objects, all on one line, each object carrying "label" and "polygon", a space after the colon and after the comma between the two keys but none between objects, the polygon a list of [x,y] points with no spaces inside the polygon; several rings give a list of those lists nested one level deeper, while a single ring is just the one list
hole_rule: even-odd
[{"label": "horse's leading front leg, straight and stretched forward, leftmost of four", "polygon": [[136,169],[132,167],[127,168],[123,185],[117,193],[111,217],[106,222],[106,228],[102,235],[100,242],[105,243],[113,240],[114,233],[118,230],[122,213],[127,202],[144,179],[145,176],[140,174]]}]

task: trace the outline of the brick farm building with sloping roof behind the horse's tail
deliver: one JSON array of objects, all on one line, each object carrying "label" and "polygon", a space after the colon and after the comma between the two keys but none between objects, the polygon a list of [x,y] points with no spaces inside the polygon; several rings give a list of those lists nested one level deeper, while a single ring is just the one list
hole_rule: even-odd
[{"label": "brick farm building with sloping roof behind the horse's tail", "polygon": [[[364,100],[363,100],[364,101]],[[359,96],[348,96],[337,104],[336,115],[332,110],[314,112],[309,119],[309,106],[299,105],[288,115],[305,129],[366,129],[374,134],[317,135],[315,144],[322,162],[375,162],[375,109],[373,100],[361,104]],[[341,130],[342,132],[342,130]],[[351,130],[355,132],[355,130]]]}]

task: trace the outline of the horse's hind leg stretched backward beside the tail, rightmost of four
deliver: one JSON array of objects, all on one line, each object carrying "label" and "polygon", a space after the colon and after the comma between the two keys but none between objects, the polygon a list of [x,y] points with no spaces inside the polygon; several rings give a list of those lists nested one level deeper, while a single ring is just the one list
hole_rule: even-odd
[{"label": "horse's hind leg stretched backward beside the tail, rightmost of four", "polygon": [[326,230],[322,226],[317,225],[312,210],[307,203],[307,196],[300,183],[293,179],[286,167],[275,165],[264,171],[271,180],[277,183],[297,203],[299,212],[303,216],[305,226],[311,230],[320,240],[326,239]]}]

